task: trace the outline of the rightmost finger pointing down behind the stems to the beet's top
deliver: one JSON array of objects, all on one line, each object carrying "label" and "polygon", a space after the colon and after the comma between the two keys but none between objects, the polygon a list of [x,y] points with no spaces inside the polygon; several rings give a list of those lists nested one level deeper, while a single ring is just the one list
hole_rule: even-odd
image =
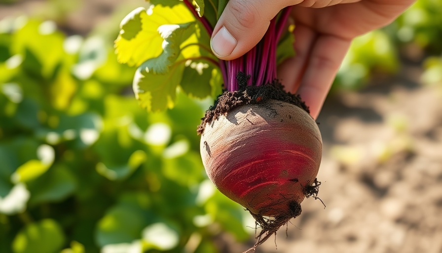
[{"label": "rightmost finger pointing down behind the stems to the beet's top", "polygon": [[317,38],[307,57],[299,88],[291,90],[298,93],[310,107],[310,115],[316,119],[321,111],[327,93],[332,86],[339,66],[350,46],[350,40],[331,35]]}]

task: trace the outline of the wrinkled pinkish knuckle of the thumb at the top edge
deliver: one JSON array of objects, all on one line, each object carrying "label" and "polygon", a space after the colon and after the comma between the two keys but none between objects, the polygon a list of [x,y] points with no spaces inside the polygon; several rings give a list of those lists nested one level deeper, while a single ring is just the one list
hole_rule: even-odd
[{"label": "wrinkled pinkish knuckle of the thumb at the top edge", "polygon": [[235,27],[241,30],[252,28],[258,17],[256,8],[249,0],[231,1],[229,11],[237,21]]}]

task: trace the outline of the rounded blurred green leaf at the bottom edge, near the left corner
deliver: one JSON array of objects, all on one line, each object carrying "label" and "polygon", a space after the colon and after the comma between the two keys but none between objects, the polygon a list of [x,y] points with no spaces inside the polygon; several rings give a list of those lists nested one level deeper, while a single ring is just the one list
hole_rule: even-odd
[{"label": "rounded blurred green leaf at the bottom edge, near the left corner", "polygon": [[14,253],[55,253],[65,241],[62,227],[53,219],[44,219],[22,229],[12,242]]}]

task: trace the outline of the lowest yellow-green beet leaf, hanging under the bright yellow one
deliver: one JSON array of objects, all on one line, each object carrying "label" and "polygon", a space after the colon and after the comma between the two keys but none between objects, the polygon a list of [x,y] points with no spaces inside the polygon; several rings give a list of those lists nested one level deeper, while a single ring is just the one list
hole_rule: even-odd
[{"label": "lowest yellow-green beet leaf, hanging under the bright yellow one", "polygon": [[134,92],[140,105],[147,111],[162,111],[175,104],[176,89],[183,77],[184,64],[176,64],[165,74],[153,74],[149,71],[155,65],[155,59],[143,63],[135,73]]}]

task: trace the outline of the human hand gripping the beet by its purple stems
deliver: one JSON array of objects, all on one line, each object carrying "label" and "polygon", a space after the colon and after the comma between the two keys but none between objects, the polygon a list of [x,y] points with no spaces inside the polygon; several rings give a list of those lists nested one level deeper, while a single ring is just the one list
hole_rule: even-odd
[{"label": "human hand gripping the beet by its purple stems", "polygon": [[278,79],[298,93],[317,118],[333,79],[357,36],[391,23],[414,0],[229,0],[212,36],[212,50],[231,60],[252,49],[270,20],[292,7],[296,56],[278,66]]}]

